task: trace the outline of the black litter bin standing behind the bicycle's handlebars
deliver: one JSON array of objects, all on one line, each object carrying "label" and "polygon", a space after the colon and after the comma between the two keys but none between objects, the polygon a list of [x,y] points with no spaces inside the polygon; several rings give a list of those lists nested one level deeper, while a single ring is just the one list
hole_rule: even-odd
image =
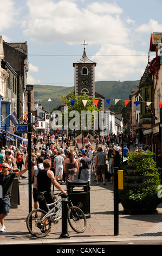
[{"label": "black litter bin standing behind the bicycle's handlebars", "polygon": [[[75,187],[81,187],[82,190],[75,189]],[[85,214],[86,218],[90,218],[90,187],[89,181],[74,180],[68,182],[68,190],[73,188],[72,192],[69,192],[70,200],[73,205],[79,207]]]}]

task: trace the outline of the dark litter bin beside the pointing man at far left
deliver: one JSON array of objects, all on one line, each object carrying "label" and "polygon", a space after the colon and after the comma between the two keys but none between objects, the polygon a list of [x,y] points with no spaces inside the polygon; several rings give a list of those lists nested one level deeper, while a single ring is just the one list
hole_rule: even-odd
[{"label": "dark litter bin beside the pointing man at far left", "polygon": [[20,193],[19,193],[18,178],[15,178],[12,182],[10,208],[12,209],[17,208],[17,205],[20,205]]}]

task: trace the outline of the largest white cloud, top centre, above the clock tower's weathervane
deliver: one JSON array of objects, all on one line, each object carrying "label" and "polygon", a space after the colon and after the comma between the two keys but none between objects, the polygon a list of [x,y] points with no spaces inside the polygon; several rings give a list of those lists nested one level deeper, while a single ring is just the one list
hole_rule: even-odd
[{"label": "largest white cloud, top centre, above the clock tower's weathervane", "polygon": [[50,44],[64,41],[72,45],[86,39],[93,45],[129,41],[128,29],[119,17],[122,10],[118,5],[96,2],[80,9],[76,3],[67,0],[57,3],[28,0],[28,7],[29,15],[23,22],[24,35],[34,42]]}]

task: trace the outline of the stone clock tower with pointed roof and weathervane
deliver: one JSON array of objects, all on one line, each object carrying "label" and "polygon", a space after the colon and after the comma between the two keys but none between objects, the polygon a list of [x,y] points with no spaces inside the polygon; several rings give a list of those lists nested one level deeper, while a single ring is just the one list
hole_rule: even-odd
[{"label": "stone clock tower with pointed roof and weathervane", "polygon": [[[84,43],[84,45],[86,45]],[[89,96],[90,99],[95,97],[95,66],[96,63],[88,59],[86,55],[86,48],[84,47],[83,55],[80,60],[73,63],[75,68],[74,93],[75,95],[82,95],[83,92]]]}]

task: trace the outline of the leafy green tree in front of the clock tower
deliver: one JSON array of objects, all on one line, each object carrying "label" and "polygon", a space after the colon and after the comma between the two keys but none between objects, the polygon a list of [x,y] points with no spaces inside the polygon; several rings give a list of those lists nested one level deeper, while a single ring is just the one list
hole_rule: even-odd
[{"label": "leafy green tree in front of the clock tower", "polygon": [[[68,124],[70,124],[70,121],[71,122],[74,121],[74,126],[77,126],[77,129],[74,130],[76,136],[82,132],[82,138],[83,138],[83,132],[84,131],[88,132],[88,130],[90,130],[88,129],[88,118],[86,118],[86,122],[85,122],[85,127],[87,127],[87,129],[82,129],[83,111],[86,113],[88,112],[93,113],[95,111],[96,113],[99,113],[101,108],[98,109],[98,107],[94,106],[94,101],[93,101],[94,99],[90,100],[89,96],[85,92],[83,92],[82,95],[78,96],[77,94],[75,95],[74,91],[72,90],[66,96],[62,95],[61,99],[62,101],[64,101],[65,105],[68,107]],[[71,100],[75,100],[74,106],[72,105]],[[86,106],[84,106],[83,100],[87,100]],[[79,120],[80,120],[79,124],[75,123],[74,115],[76,111],[77,111],[77,114],[79,115]],[[73,112],[75,112],[74,115],[73,115]],[[69,116],[69,113],[71,113],[70,116]],[[64,115],[64,112],[62,114]],[[91,117],[92,117],[92,127],[94,127],[95,117],[94,115],[91,115]],[[64,118],[62,120],[64,120]],[[82,139],[82,143],[83,143],[83,139]]]}]

